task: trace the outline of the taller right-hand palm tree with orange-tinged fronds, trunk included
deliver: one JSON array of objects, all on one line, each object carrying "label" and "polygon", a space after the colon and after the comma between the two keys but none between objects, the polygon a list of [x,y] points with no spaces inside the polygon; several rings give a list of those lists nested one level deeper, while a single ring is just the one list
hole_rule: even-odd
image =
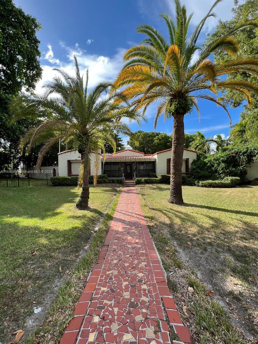
[{"label": "taller right-hand palm tree with orange-tinged fronds, trunk included", "polygon": [[[136,109],[143,112],[158,102],[154,128],[164,113],[164,120],[173,117],[173,145],[171,151],[170,203],[182,204],[182,158],[184,148],[184,115],[195,107],[198,115],[198,99],[207,99],[226,107],[217,98],[217,90],[230,88],[239,91],[251,102],[250,91],[258,93],[253,84],[241,80],[225,80],[225,75],[235,71],[258,76],[258,60],[255,58],[237,58],[238,43],[233,34],[248,25],[258,26],[257,21],[239,23],[234,31],[225,37],[214,39],[202,47],[196,44],[207,18],[214,17],[212,10],[203,18],[192,35],[188,29],[192,14],[186,15],[186,8],[175,0],[175,21],[162,14],[168,26],[169,41],[153,26],[139,25],[138,33],[147,37],[140,45],[128,49],[123,56],[125,65],[114,83],[114,89],[125,87],[123,94]],[[209,59],[215,51],[226,52],[232,56],[227,63],[215,63]],[[197,54],[197,58],[195,56]]]}]

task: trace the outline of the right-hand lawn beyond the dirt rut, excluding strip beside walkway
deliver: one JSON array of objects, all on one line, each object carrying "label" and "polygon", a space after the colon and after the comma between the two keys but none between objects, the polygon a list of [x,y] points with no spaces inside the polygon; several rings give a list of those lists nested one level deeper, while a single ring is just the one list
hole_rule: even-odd
[{"label": "right-hand lawn beyond the dirt rut, excluding strip beside walkway", "polygon": [[258,186],[183,186],[185,206],[168,203],[169,185],[144,185],[138,190],[187,264],[230,307],[236,326],[245,323],[240,328],[256,338]]}]

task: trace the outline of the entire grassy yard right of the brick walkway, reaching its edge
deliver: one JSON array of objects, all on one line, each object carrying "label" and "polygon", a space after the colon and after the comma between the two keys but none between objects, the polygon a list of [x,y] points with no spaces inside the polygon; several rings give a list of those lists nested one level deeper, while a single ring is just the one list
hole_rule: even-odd
[{"label": "entire grassy yard right of the brick walkway, reaching its edge", "polygon": [[[143,197],[144,215],[163,266],[169,273],[169,287],[172,294],[180,298],[179,304],[181,296],[185,297],[180,284],[186,291],[188,286],[195,284],[187,313],[194,314],[192,332],[197,342],[235,344],[256,338],[258,187],[206,189],[183,186],[185,206],[168,203],[168,185],[145,185],[138,187],[138,191]],[[178,258],[178,249],[223,302],[231,306],[230,309],[233,307],[231,320],[240,331],[244,329],[246,338],[241,339],[234,331],[218,302],[205,297],[204,285]],[[180,280],[182,283],[178,283]],[[189,297],[189,293],[186,295]],[[182,315],[188,319],[184,312]],[[240,321],[237,323],[235,318]]]}]

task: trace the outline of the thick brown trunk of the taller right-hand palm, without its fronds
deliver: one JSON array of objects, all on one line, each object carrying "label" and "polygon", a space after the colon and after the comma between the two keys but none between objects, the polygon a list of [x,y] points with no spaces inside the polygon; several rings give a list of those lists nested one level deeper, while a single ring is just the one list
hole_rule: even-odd
[{"label": "thick brown trunk of the taller right-hand palm, without its fronds", "polygon": [[182,162],[184,154],[184,115],[175,115],[173,122],[172,150],[170,164],[169,203],[183,204]]}]

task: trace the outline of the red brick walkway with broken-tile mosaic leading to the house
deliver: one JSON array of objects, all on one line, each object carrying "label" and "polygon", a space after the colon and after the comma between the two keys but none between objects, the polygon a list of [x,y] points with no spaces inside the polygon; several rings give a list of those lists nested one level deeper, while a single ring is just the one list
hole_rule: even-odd
[{"label": "red brick walkway with broken-tile mosaic leading to the house", "polygon": [[192,343],[170,295],[136,189],[123,188],[98,263],[60,344],[168,344],[165,318],[180,338],[173,343]]}]

